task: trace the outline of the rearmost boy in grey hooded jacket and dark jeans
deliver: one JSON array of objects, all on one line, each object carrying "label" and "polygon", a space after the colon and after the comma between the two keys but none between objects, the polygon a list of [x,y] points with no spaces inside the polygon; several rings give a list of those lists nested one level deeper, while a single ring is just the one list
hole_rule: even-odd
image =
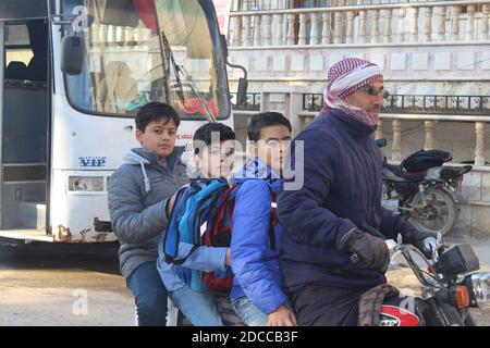
[{"label": "rearmost boy in grey hooded jacket and dark jeans", "polygon": [[133,293],[139,325],[166,325],[167,289],[157,271],[159,236],[167,227],[168,202],[187,182],[175,147],[176,111],[150,102],[135,119],[142,148],[130,150],[109,181],[109,212],[121,247],[121,273]]}]

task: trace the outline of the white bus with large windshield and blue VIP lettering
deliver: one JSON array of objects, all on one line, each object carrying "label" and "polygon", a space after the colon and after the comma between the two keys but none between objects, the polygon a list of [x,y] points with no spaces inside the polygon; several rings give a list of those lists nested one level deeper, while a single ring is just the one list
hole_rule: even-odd
[{"label": "white bus with large windshield and blue VIP lettering", "polygon": [[148,101],[179,110],[188,150],[232,125],[211,0],[0,0],[0,49],[1,238],[115,240],[107,184]]}]

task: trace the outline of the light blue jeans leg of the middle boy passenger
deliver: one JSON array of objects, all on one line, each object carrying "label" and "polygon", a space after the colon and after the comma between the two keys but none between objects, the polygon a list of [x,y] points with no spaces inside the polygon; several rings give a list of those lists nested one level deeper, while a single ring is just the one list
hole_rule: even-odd
[{"label": "light blue jeans leg of the middle boy passenger", "polygon": [[169,297],[194,326],[223,326],[212,294],[197,293],[185,285],[169,293]]}]

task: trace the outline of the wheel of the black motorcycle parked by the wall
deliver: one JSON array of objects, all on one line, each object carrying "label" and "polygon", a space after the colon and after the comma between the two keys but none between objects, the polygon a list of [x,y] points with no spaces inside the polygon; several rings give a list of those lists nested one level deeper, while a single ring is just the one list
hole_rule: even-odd
[{"label": "wheel of the black motorcycle parked by the wall", "polygon": [[425,192],[415,194],[411,207],[409,221],[420,231],[440,232],[444,236],[456,224],[456,203],[450,194],[440,188],[431,187]]}]

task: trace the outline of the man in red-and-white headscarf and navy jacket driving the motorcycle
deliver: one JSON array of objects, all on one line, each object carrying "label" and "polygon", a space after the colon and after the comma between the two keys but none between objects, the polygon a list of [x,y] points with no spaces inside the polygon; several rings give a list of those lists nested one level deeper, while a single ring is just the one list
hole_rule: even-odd
[{"label": "man in red-and-white headscarf and navy jacket driving the motorcycle", "polygon": [[[376,64],[343,59],[329,71],[323,109],[293,141],[286,167],[296,167],[294,179],[303,175],[304,185],[285,187],[278,213],[284,226],[281,273],[298,325],[376,324],[372,303],[397,295],[385,284],[384,240],[396,240],[400,233],[404,244],[426,254],[436,248],[432,234],[381,207],[383,157],[371,133],[383,95]],[[298,140],[304,141],[303,173],[294,150]]]}]

